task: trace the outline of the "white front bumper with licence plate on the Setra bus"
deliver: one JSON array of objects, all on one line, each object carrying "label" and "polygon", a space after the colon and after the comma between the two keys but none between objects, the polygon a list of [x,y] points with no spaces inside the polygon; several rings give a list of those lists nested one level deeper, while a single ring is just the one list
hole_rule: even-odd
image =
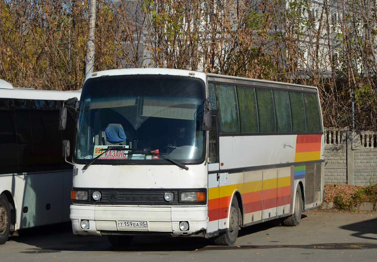
[{"label": "white front bumper with licence plate on the Setra bus", "polygon": [[[71,205],[70,219],[76,235],[156,233],[185,236],[204,233],[208,208]],[[89,228],[81,226],[84,220],[89,222]],[[189,228],[181,230],[181,222],[187,222]]]}]

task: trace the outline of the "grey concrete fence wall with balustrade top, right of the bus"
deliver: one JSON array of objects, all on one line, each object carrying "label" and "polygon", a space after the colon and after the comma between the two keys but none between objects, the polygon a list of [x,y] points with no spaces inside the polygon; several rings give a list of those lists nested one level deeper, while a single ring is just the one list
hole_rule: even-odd
[{"label": "grey concrete fence wall with balustrade top, right of the bus", "polygon": [[377,132],[325,129],[325,183],[377,183]]}]

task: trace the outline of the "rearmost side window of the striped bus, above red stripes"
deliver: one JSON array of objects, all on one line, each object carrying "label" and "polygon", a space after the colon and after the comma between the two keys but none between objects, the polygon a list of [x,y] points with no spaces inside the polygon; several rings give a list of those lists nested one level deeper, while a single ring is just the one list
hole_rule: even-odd
[{"label": "rearmost side window of the striped bus, above red stripes", "polygon": [[317,96],[304,93],[305,114],[307,118],[308,132],[322,132],[322,122],[318,106]]}]

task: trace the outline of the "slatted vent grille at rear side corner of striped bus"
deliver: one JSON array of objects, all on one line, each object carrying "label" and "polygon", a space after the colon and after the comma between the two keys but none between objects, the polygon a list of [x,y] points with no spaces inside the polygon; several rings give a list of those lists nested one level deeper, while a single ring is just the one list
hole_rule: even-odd
[{"label": "slatted vent grille at rear side corner of striped bus", "polygon": [[305,165],[305,204],[321,200],[321,164]]}]

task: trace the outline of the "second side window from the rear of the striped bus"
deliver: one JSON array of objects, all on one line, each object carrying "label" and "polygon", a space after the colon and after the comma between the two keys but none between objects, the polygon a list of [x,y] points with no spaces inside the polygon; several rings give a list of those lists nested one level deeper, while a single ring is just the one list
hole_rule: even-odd
[{"label": "second side window from the rear of the striped bus", "polygon": [[303,94],[300,92],[289,92],[289,100],[292,112],[292,129],[293,132],[305,132],[305,108]]}]

